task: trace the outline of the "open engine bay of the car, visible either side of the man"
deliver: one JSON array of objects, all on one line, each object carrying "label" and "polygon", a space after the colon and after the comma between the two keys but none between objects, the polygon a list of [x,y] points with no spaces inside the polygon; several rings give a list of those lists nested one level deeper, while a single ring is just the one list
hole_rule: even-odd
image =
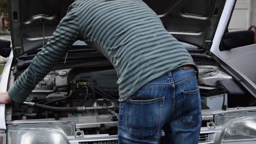
[{"label": "open engine bay of the car, visible either side of the man", "polygon": [[[244,89],[218,65],[197,66],[202,110],[252,105]],[[74,122],[77,131],[84,134],[115,135],[117,80],[116,71],[106,66],[52,70],[24,104],[12,105],[7,124]],[[231,92],[227,85],[240,88],[240,93]]]}]

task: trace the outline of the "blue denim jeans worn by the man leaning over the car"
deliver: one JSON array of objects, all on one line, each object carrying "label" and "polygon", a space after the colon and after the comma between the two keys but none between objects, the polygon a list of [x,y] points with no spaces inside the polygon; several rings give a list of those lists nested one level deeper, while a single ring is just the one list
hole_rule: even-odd
[{"label": "blue denim jeans worn by the man leaning over the car", "polygon": [[179,68],[119,104],[119,143],[198,143],[201,100],[195,70]]}]

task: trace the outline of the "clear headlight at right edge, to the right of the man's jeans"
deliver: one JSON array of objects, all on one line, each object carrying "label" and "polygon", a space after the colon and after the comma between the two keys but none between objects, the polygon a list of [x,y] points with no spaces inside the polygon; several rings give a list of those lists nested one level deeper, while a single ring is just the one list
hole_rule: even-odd
[{"label": "clear headlight at right edge, to the right of the man's jeans", "polygon": [[256,117],[236,118],[223,125],[221,143],[256,141]]}]

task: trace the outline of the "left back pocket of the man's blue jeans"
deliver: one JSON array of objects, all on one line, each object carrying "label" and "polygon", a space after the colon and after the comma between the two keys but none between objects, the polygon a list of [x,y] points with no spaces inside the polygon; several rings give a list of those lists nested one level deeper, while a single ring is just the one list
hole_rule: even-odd
[{"label": "left back pocket of the man's blue jeans", "polygon": [[164,99],[127,100],[127,131],[130,137],[148,140],[158,134]]}]

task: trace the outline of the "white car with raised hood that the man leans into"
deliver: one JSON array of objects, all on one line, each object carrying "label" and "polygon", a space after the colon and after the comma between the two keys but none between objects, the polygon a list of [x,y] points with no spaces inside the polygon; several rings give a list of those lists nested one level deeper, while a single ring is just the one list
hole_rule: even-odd
[{"label": "white car with raised hood that the man leans into", "polygon": [[[12,49],[0,91],[13,86],[73,1],[9,0]],[[256,44],[251,30],[228,32],[235,0],[145,1],[199,67],[199,143],[256,143]],[[117,143],[117,75],[93,47],[76,41],[24,104],[0,105],[0,143]],[[166,143],[164,132],[161,143]]]}]

